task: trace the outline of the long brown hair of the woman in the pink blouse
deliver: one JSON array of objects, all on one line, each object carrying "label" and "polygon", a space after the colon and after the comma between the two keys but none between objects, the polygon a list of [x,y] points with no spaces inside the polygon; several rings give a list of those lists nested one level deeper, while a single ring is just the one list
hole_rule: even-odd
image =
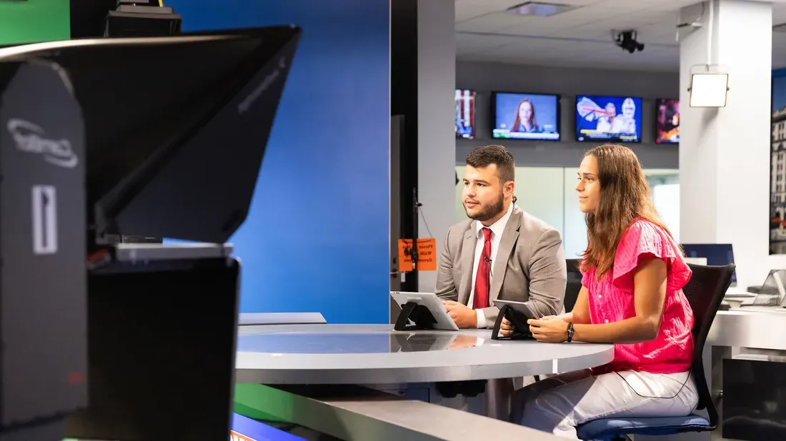
[{"label": "long brown hair of the woman in the pink blouse", "polygon": [[604,144],[586,152],[597,160],[601,198],[595,213],[587,213],[587,249],[582,270],[595,268],[597,279],[614,266],[617,245],[635,219],[644,219],[671,232],[658,217],[649,197],[647,177],[630,148]]}]

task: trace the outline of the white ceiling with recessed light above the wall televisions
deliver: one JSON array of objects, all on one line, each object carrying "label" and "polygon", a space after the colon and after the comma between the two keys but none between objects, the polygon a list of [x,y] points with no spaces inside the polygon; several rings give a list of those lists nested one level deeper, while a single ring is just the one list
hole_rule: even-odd
[{"label": "white ceiling with recessed light above the wall televisions", "polygon": [[[523,3],[520,11],[514,8]],[[693,4],[696,0],[456,0],[457,60],[677,71],[679,11]],[[784,23],[786,3],[779,0],[773,24]],[[615,36],[628,30],[636,31],[645,50],[629,53],[615,45]],[[773,67],[786,67],[786,26],[773,30]]]}]

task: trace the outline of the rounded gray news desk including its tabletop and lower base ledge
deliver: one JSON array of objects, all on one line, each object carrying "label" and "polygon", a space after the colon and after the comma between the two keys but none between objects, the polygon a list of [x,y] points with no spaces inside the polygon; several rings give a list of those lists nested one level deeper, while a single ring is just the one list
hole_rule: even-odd
[{"label": "rounded gray news desk including its tabletop and lower base ledge", "polygon": [[[601,366],[614,355],[611,344],[490,337],[490,330],[397,332],[391,325],[241,326],[236,382],[260,385],[270,403],[267,413],[340,439],[556,441],[544,432],[413,399],[406,390],[557,374]],[[290,404],[275,404],[281,402]]]}]

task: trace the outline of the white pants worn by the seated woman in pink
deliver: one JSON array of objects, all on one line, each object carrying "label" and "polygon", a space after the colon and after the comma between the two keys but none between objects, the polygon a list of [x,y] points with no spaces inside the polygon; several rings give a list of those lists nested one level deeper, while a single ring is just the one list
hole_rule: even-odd
[{"label": "white pants worn by the seated woman in pink", "polygon": [[577,370],[519,389],[512,422],[578,439],[576,426],[606,417],[681,417],[699,402],[689,373],[649,374],[625,370],[594,376]]}]

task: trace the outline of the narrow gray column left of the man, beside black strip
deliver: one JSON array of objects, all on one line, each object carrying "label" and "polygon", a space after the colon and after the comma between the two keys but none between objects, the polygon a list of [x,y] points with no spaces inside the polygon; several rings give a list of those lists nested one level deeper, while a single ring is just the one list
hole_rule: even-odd
[{"label": "narrow gray column left of the man, beside black strip", "polygon": [[[437,256],[455,223],[456,4],[417,1],[418,236],[437,240]],[[428,228],[427,228],[428,225]],[[419,272],[418,289],[433,292],[436,272]]]}]

